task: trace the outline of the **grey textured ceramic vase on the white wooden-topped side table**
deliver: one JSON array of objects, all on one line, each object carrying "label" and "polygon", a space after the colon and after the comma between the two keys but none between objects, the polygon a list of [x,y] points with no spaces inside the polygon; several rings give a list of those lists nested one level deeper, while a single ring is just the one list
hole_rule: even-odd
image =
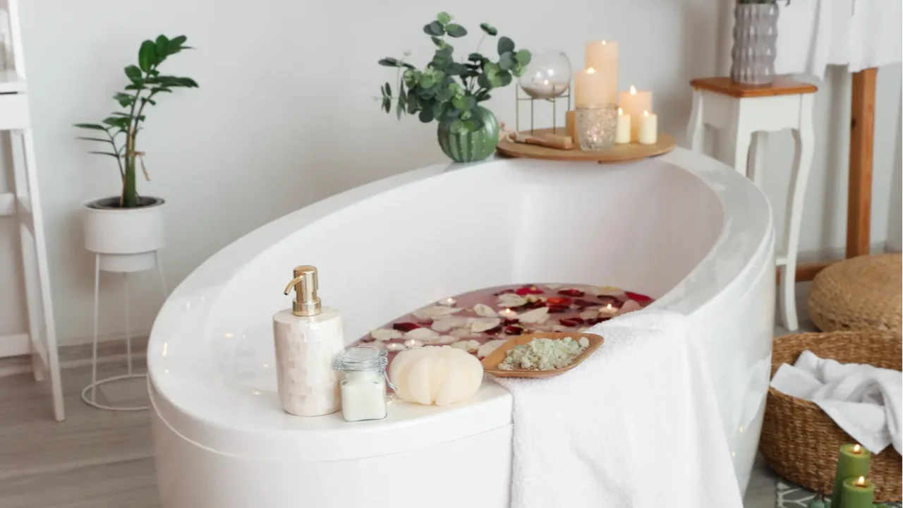
[{"label": "grey textured ceramic vase on the white wooden-topped side table", "polygon": [[734,7],[731,80],[744,85],[768,85],[775,78],[777,4]]}]

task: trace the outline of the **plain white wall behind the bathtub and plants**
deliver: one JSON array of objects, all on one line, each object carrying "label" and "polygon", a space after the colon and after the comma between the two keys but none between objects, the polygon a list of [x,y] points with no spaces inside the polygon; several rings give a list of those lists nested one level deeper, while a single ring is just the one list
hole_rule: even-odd
[{"label": "plain white wall behind the bathtub and plants", "polygon": [[[190,75],[201,88],[163,98],[150,112],[141,146],[154,181],[141,183],[140,190],[168,202],[169,246],[163,257],[174,285],[217,249],[266,221],[354,185],[442,160],[434,124],[424,126],[415,118],[399,123],[370,99],[379,84],[393,76],[377,66],[380,57],[412,50],[417,63],[428,59],[431,42],[421,27],[437,12],[457,14],[471,33],[487,21],[522,47],[561,49],[572,56],[575,67],[582,62],[583,42],[619,41],[621,88],[637,84],[652,89],[661,128],[683,138],[690,110],[687,82],[714,74],[724,51],[719,44],[719,20],[727,14],[723,4],[717,0],[22,2],[61,340],[91,334],[93,265],[82,249],[79,203],[117,193],[119,187],[115,166],[86,155],[87,146],[75,139],[78,133],[70,124],[100,119],[112,110],[115,103],[108,98],[125,84],[122,68],[135,60],[142,39],[185,33],[198,48],[177,55],[167,68]],[[455,46],[468,52],[475,43],[468,37]],[[896,78],[885,78],[893,72]],[[899,89],[899,74],[882,71],[881,88],[896,84]],[[499,90],[489,104],[509,123],[514,118],[513,94],[511,88]],[[844,98],[842,86],[824,90],[819,97],[822,117],[817,121],[824,125],[817,138],[816,165],[824,169],[815,172],[809,193],[806,224],[811,229],[805,233],[804,249],[842,243],[842,229],[838,232],[842,221],[833,217],[842,216],[843,200],[826,196],[841,195],[845,183],[825,174],[842,174],[838,168],[845,164],[845,155],[838,152],[846,134],[839,116],[849,109]],[[890,100],[896,112],[898,98]],[[896,126],[897,118],[890,117],[880,113],[880,132]],[[829,121],[837,125],[828,125]],[[769,162],[780,173],[783,166],[778,164],[789,160],[789,142],[777,137]],[[876,194],[881,189],[880,161],[894,156],[887,145],[876,141]],[[779,178],[770,179],[769,195],[781,184]],[[880,206],[876,195],[874,215],[886,221],[887,199],[884,208]],[[819,225],[826,210],[832,217],[828,230]],[[876,233],[876,240],[881,235]],[[4,254],[0,251],[0,257]],[[101,329],[107,334],[123,329],[122,318],[114,314],[121,305],[120,282],[108,275],[103,279]],[[135,329],[146,331],[161,296],[151,273],[135,275],[133,288],[137,295],[132,301],[139,307],[133,312]]]}]

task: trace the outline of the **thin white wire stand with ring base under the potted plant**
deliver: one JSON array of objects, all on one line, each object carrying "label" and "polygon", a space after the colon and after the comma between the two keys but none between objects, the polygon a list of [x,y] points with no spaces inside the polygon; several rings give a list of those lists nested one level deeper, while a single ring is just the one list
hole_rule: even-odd
[{"label": "thin white wire stand with ring base under the potted plant", "polygon": [[[166,278],[163,275],[163,264],[160,262],[160,251],[154,250],[148,254],[153,255],[154,257],[154,265],[151,266],[150,269],[157,268],[157,272],[160,274],[160,285],[163,287],[163,299],[166,298],[168,292],[166,290]],[[120,258],[117,255],[107,255],[107,254],[94,254],[94,347],[91,353],[91,384],[86,386],[84,390],[81,390],[81,400],[84,400],[88,406],[93,406],[98,409],[108,409],[110,411],[142,411],[144,409],[148,409],[149,406],[114,406],[101,404],[97,401],[97,390],[98,386],[102,384],[107,384],[115,381],[123,381],[127,379],[135,379],[135,378],[144,378],[147,377],[146,372],[135,373],[132,366],[132,327],[129,322],[129,308],[128,308],[128,274],[135,271],[144,271],[146,268],[144,267],[135,267],[130,266],[128,264],[116,264],[109,263],[105,261],[116,260]],[[100,307],[100,271],[114,272],[122,274],[122,286],[123,286],[123,304],[125,306],[125,317],[126,317],[126,362],[128,365],[128,371],[126,374],[119,376],[112,376],[108,378],[104,378],[98,380],[98,317],[99,317],[99,307]]]}]

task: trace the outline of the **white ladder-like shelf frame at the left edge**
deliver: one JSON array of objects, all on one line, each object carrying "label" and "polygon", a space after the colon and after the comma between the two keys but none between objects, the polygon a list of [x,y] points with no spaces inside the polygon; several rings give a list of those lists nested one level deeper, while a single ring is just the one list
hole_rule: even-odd
[{"label": "white ladder-like shelf frame at the left edge", "polygon": [[28,332],[0,336],[0,356],[31,354],[35,381],[43,381],[44,373],[50,373],[53,416],[57,421],[62,421],[66,414],[62,400],[50,271],[26,94],[18,1],[6,0],[5,4],[8,8],[9,38],[6,40],[4,37],[4,42],[12,46],[14,68],[0,70],[0,130],[9,131],[13,146],[13,190],[0,193],[0,216],[15,217],[19,226]]}]

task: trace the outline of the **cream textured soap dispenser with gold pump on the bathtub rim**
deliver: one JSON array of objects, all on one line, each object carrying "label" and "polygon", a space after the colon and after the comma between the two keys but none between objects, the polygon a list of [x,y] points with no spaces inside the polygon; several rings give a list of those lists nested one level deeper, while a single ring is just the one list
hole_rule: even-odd
[{"label": "cream textured soap dispenser with gold pump on the bathtub rim", "polygon": [[339,377],[333,370],[345,349],[339,311],[321,305],[317,268],[294,268],[285,287],[294,288],[291,309],[273,315],[276,381],[285,412],[300,417],[334,413],[341,408]]}]

